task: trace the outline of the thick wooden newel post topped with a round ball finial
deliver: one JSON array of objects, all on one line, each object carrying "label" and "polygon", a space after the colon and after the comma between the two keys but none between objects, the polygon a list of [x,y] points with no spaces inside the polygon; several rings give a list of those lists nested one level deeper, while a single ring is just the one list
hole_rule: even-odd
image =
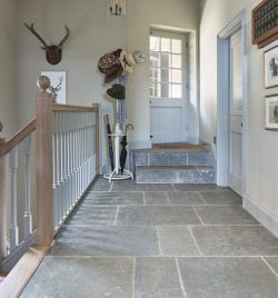
[{"label": "thick wooden newel post topped with a round ball finial", "polygon": [[48,77],[39,77],[37,85],[41,90],[36,97],[37,241],[50,246],[53,240],[52,97],[47,92]]}]

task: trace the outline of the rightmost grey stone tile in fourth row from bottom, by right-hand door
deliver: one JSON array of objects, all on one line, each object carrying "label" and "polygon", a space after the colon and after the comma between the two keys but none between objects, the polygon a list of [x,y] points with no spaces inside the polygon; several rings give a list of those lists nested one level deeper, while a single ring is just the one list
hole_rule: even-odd
[{"label": "rightmost grey stone tile in fourth row from bottom, by right-hand door", "polygon": [[234,191],[200,192],[208,205],[242,205],[242,199]]}]

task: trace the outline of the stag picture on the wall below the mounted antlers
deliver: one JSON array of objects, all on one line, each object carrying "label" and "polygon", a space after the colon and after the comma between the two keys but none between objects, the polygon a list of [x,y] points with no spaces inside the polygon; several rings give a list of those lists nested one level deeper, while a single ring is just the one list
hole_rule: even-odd
[{"label": "stag picture on the wall below the mounted antlers", "polygon": [[67,74],[66,71],[41,71],[41,76],[50,79],[48,92],[53,97],[57,103],[67,103]]}]

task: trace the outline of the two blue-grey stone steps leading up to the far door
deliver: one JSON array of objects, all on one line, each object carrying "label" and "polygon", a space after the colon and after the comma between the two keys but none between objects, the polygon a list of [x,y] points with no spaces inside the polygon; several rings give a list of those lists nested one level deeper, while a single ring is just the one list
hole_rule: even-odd
[{"label": "two blue-grey stone steps leading up to the far door", "polygon": [[137,183],[215,183],[215,157],[209,146],[193,149],[131,151]]}]

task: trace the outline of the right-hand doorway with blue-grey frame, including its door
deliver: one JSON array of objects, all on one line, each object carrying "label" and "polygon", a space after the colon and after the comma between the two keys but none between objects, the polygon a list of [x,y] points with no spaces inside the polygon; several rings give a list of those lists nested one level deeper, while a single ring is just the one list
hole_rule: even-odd
[{"label": "right-hand doorway with blue-grey frame, including its door", "polygon": [[246,188],[246,31],[240,12],[218,34],[217,183]]}]

